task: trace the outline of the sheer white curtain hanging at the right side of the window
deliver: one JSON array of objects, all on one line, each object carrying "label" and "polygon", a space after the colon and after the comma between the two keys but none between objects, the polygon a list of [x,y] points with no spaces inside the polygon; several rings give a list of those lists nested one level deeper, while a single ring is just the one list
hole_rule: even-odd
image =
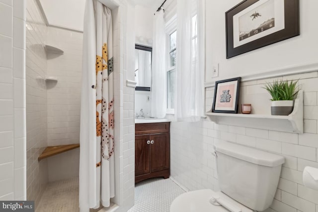
[{"label": "sheer white curtain hanging at the right side of the window", "polygon": [[[199,121],[204,115],[203,7],[204,0],[177,0],[177,80],[174,104],[177,121]],[[197,43],[192,45],[191,23],[195,14],[197,14]],[[193,56],[196,58],[195,61]]]}]

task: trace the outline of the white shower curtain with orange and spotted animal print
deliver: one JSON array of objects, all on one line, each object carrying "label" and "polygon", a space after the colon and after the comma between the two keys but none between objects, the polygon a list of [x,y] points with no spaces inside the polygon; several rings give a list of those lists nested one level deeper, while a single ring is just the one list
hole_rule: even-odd
[{"label": "white shower curtain with orange and spotted animal print", "polygon": [[114,197],[114,95],[111,10],[86,0],[80,112],[79,209]]}]

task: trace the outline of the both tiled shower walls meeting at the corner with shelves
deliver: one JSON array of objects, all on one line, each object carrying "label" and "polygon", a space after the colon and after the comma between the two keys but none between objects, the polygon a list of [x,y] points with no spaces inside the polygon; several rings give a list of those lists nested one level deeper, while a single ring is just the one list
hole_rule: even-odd
[{"label": "both tiled shower walls meeting at the corner with shelves", "polygon": [[[46,53],[50,44],[64,54]],[[82,33],[47,27],[36,1],[26,8],[27,196],[79,174],[79,149],[38,162],[45,147],[79,143]],[[58,81],[46,80],[56,77]]]}]

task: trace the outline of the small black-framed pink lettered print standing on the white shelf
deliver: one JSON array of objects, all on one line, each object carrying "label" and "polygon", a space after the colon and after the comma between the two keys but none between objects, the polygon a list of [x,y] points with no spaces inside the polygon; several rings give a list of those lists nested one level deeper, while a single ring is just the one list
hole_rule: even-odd
[{"label": "small black-framed pink lettered print standing on the white shelf", "polygon": [[212,112],[238,113],[241,77],[215,82]]}]

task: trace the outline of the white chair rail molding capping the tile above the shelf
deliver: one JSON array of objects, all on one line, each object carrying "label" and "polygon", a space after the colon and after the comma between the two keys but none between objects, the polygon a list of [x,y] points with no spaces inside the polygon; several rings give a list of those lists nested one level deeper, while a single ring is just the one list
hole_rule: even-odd
[{"label": "white chair rail molding capping the tile above the shelf", "polygon": [[[294,66],[286,66],[275,70],[268,70],[261,73],[254,73],[254,74],[247,74],[242,75],[240,77],[242,82],[245,81],[252,81],[257,79],[266,79],[272,77],[279,77],[279,76],[287,76],[293,74],[300,74],[300,73],[307,73],[318,71],[318,62],[315,63],[308,63],[308,64],[301,64],[301,65],[294,65]],[[235,76],[237,77],[237,76]],[[234,78],[234,76],[233,76]],[[221,80],[221,79],[220,79]],[[204,82],[204,87],[214,87],[215,81]]]}]

